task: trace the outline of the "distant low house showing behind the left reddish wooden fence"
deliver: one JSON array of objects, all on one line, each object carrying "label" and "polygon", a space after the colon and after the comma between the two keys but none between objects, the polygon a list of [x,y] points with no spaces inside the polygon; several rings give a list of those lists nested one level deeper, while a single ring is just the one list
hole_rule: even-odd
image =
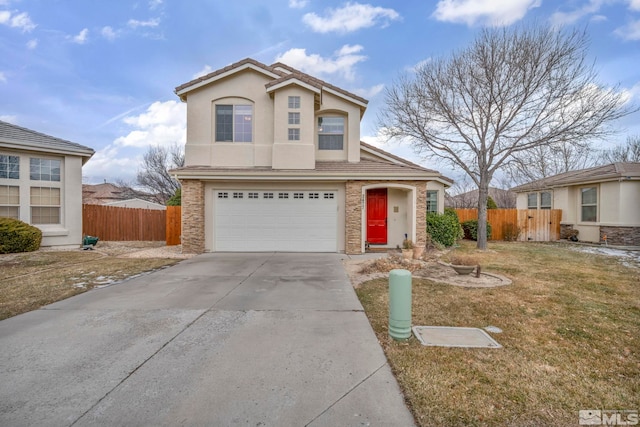
[{"label": "distant low house showing behind the left reddish wooden fence", "polygon": [[139,209],[166,209],[166,206],[151,201],[153,195],[128,187],[119,187],[104,182],[102,184],[84,184],[82,203],[87,205],[109,205]]}]

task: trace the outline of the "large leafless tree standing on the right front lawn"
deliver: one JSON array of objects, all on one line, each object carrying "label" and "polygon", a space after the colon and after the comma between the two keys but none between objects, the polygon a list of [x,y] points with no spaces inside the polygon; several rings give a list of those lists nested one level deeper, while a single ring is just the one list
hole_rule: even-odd
[{"label": "large leafless tree standing on the right front lawn", "polygon": [[478,248],[486,249],[489,183],[514,155],[612,133],[631,111],[596,82],[584,32],[485,29],[470,47],[425,62],[386,90],[380,125],[418,154],[461,168],[478,186]]}]

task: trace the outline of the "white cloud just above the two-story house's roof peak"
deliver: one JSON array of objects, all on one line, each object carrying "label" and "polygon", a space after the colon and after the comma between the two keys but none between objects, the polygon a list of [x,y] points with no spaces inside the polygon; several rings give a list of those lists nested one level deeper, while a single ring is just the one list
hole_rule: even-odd
[{"label": "white cloud just above the two-story house's roof peak", "polygon": [[278,55],[275,62],[282,62],[313,76],[337,74],[351,81],[355,78],[355,65],[367,59],[364,55],[357,55],[362,49],[360,45],[344,45],[332,57],[323,58],[318,54],[307,55],[306,49],[294,48]]}]

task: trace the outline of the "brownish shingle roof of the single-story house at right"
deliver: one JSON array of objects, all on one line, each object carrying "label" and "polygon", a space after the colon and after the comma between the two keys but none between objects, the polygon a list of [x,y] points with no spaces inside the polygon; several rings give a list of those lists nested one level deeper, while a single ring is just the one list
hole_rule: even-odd
[{"label": "brownish shingle roof of the single-story house at right", "polygon": [[627,177],[629,177],[629,179],[640,179],[640,163],[611,163],[604,166],[565,172],[519,185],[512,188],[511,191],[520,193],[543,188],[603,182]]}]

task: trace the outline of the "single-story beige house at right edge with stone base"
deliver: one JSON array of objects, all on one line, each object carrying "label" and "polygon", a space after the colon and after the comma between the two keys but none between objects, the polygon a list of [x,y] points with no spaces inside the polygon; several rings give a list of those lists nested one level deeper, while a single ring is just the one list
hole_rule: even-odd
[{"label": "single-story beige house at right edge with stone base", "polygon": [[518,209],[562,209],[561,237],[640,246],[640,163],[566,172],[512,188]]}]

